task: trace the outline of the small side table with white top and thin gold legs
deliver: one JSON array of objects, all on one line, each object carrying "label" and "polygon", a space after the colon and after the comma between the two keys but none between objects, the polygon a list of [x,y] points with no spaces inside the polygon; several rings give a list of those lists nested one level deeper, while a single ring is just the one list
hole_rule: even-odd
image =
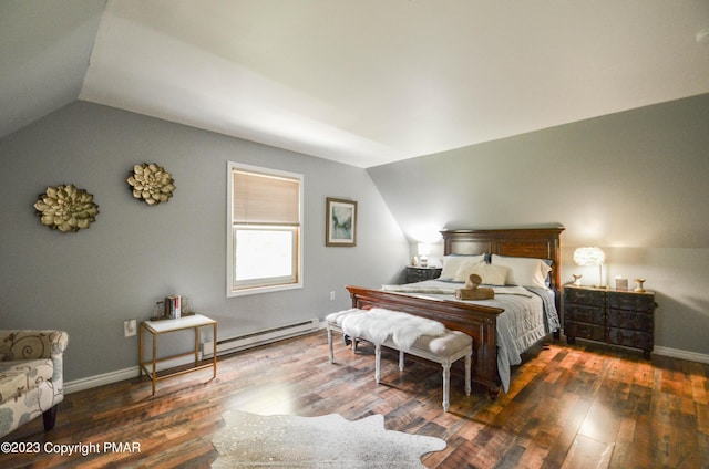
[{"label": "small side table with white top and thin gold legs", "polygon": [[[199,329],[204,326],[212,326],[214,330],[214,355],[210,361],[199,361]],[[195,350],[187,353],[171,355],[163,358],[157,358],[157,337],[162,334],[169,332],[184,331],[192,329],[195,332]],[[152,355],[148,359],[143,359],[143,332],[146,332],[152,337]],[[192,373],[199,369],[213,368],[213,378],[217,377],[217,322],[202,314],[193,314],[189,316],[183,316],[175,320],[156,320],[144,321],[141,323],[140,337],[138,337],[138,359],[141,364],[141,376],[145,373],[153,381],[153,395],[155,395],[155,383],[158,381],[184,375],[185,373]],[[195,363],[189,368],[179,369],[176,372],[164,371],[158,373],[156,366],[161,362],[165,362],[173,358],[193,355]],[[150,368],[148,368],[150,367]]]}]

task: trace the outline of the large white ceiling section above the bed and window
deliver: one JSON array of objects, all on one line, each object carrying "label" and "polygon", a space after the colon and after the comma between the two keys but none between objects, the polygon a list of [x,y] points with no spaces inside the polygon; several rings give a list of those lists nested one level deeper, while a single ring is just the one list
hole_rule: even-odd
[{"label": "large white ceiling section above the bed and window", "polygon": [[78,97],[371,167],[709,93],[708,28],[706,0],[109,0]]}]

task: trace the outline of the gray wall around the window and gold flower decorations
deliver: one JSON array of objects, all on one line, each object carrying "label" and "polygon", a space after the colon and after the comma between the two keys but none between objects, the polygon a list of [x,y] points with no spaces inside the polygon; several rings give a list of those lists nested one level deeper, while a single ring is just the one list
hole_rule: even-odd
[{"label": "gray wall around the window and gold flower decorations", "polygon": [[[227,160],[305,175],[304,289],[226,298]],[[0,163],[0,329],[66,330],[65,381],[136,366],[123,322],[148,319],[166,294],[189,296],[228,337],[348,308],[346,284],[397,282],[408,257],[366,170],[110,107],[75,102],[50,114],[1,139]],[[167,204],[132,197],[125,179],[137,163],[173,174]],[[70,183],[100,213],[88,230],[60,233],[32,205]],[[325,247],[328,196],[358,201],[356,248]]]}]

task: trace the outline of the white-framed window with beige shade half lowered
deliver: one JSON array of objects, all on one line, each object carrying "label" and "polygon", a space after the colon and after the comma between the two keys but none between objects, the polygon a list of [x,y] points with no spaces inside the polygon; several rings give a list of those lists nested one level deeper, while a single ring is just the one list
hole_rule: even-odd
[{"label": "white-framed window with beige shade half lowered", "polygon": [[228,164],[227,296],[301,280],[302,175]]}]

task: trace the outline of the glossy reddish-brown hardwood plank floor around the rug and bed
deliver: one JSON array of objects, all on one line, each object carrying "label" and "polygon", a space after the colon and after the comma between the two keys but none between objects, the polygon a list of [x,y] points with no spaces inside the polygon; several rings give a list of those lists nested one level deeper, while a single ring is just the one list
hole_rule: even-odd
[{"label": "glossy reddish-brown hardwood plank floor around the rug and bed", "polygon": [[[422,459],[429,468],[709,468],[709,365],[549,342],[513,371],[512,388],[495,402],[475,386],[466,397],[453,376],[444,413],[439,365],[412,358],[399,373],[394,353],[383,358],[377,386],[372,348],[352,355],[338,341],[330,364],[322,331],[222,357],[216,379],[210,371],[167,379],[154,397],[145,377],[73,393],[53,430],[37,418],[3,440],[102,450],[0,455],[0,467],[209,467],[222,413],[240,409],[383,414],[388,429],[446,440]],[[105,452],[104,442],[136,442],[140,452]]]}]

